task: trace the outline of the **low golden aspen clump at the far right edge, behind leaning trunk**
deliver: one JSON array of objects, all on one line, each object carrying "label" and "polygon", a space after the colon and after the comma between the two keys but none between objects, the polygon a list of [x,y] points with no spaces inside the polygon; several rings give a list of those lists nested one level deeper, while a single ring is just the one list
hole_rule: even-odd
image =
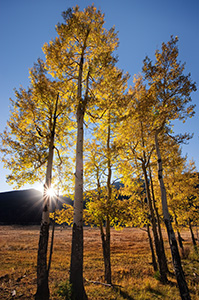
[{"label": "low golden aspen clump at the far right edge, behind leaning trunk", "polygon": [[[175,157],[174,160],[176,160]],[[176,167],[172,168],[174,165]],[[197,225],[199,219],[197,209],[199,205],[198,174],[195,164],[193,162],[188,164],[186,158],[181,158],[181,160],[178,158],[178,161],[174,161],[172,166],[169,167],[170,171],[165,176],[165,185],[168,191],[168,205],[176,224],[179,245],[183,252],[180,225],[187,226],[190,230],[193,246],[197,250],[192,226]]]}]

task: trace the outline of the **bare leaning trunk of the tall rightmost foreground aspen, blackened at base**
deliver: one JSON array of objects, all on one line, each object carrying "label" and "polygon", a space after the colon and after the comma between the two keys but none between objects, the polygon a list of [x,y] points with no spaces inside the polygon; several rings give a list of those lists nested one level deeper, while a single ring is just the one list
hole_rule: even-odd
[{"label": "bare leaning trunk of the tall rightmost foreground aspen, blackened at base", "polygon": [[162,210],[164,215],[164,222],[166,225],[168,238],[169,238],[169,245],[171,248],[171,254],[172,254],[172,261],[173,266],[175,270],[176,280],[178,283],[180,296],[182,300],[190,300],[190,294],[189,289],[185,280],[184,272],[181,265],[181,259],[180,254],[178,251],[178,245],[175,237],[175,233],[171,224],[170,215],[168,211],[168,205],[167,205],[167,197],[166,197],[166,189],[164,186],[164,180],[163,180],[163,170],[162,170],[162,159],[158,144],[158,133],[155,133],[155,146],[156,146],[156,154],[158,159],[158,179],[160,184],[160,190],[161,190],[161,199],[162,199]]}]

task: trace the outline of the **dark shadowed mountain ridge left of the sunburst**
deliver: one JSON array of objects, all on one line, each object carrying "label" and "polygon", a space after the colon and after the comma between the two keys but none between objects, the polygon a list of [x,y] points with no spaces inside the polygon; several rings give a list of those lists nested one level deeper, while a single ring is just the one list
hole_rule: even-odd
[{"label": "dark shadowed mountain ridge left of the sunburst", "polygon": [[[63,203],[72,200],[60,197]],[[58,203],[61,208],[62,203]],[[41,223],[42,193],[35,189],[0,193],[0,225],[33,225]]]}]

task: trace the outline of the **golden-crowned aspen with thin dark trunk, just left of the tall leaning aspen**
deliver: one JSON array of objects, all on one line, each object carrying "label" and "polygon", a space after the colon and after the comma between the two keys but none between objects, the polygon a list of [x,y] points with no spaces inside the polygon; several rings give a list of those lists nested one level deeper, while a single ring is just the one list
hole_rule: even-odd
[{"label": "golden-crowned aspen with thin dark trunk, just left of the tall leaning aspen", "polygon": [[[126,117],[124,118],[118,134],[118,147],[121,143],[120,157],[131,161],[134,165],[134,173],[137,166],[141,168],[145,183],[147,203],[149,205],[151,225],[154,235],[156,254],[158,258],[158,267],[161,281],[167,282],[166,262],[162,255],[161,244],[159,241],[156,227],[156,219],[152,204],[152,196],[149,186],[148,168],[151,156],[154,152],[154,141],[151,137],[151,113],[148,111],[148,102],[150,103],[150,94],[143,84],[141,76],[135,78],[135,86],[130,90],[131,101],[128,104]],[[124,169],[122,169],[122,172]],[[126,167],[126,171],[128,168]],[[127,175],[128,176],[128,175]],[[127,177],[125,176],[125,177]]]}]

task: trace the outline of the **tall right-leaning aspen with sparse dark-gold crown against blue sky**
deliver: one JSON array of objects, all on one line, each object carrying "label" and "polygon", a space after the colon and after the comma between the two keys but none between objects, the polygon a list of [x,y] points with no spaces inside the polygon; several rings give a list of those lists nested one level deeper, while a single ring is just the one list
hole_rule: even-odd
[{"label": "tall right-leaning aspen with sparse dark-gold crown against blue sky", "polygon": [[183,74],[185,65],[178,61],[177,42],[178,38],[172,36],[167,44],[162,43],[162,52],[156,51],[156,61],[154,64],[146,57],[143,73],[153,98],[151,106],[148,106],[148,109],[154,112],[153,135],[156,147],[164,222],[167,228],[180,295],[183,300],[189,300],[190,294],[168,211],[163,179],[163,164],[158,140],[160,133],[165,130],[165,127],[169,128],[171,126],[171,121],[176,119],[186,120],[187,117],[191,117],[194,114],[194,106],[188,106],[188,104],[191,102],[191,92],[196,90],[196,86],[195,83],[192,83],[190,74],[187,76]]}]

